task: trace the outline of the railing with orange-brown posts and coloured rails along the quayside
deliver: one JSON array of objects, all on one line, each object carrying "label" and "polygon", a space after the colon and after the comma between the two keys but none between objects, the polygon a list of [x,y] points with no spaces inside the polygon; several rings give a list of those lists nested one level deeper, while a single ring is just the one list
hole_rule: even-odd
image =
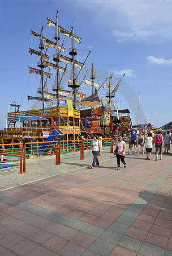
[{"label": "railing with orange-brown posts and coloured rails along the quayside", "polygon": [[[126,149],[130,148],[130,137],[123,139],[127,144]],[[102,138],[100,142],[102,154],[104,154],[104,152],[113,153],[114,147],[118,142],[118,137]],[[66,157],[68,160],[70,160],[70,158],[83,160],[89,156],[91,143],[92,139],[0,144],[0,168],[4,168],[5,170],[16,168],[20,173],[23,173],[26,172],[28,158],[38,158],[41,156],[54,155],[54,158],[51,158],[51,160],[55,161],[56,165],[61,164],[61,160],[65,160]],[[7,163],[7,166],[5,163]]]}]

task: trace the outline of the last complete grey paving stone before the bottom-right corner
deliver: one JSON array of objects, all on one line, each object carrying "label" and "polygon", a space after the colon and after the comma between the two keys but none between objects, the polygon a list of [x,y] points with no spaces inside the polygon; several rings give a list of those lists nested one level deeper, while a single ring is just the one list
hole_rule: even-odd
[{"label": "last complete grey paving stone before the bottom-right corner", "polygon": [[142,241],[137,240],[136,238],[123,236],[117,245],[124,247],[128,250],[135,251],[135,253],[137,253],[137,251],[140,248],[141,243],[142,243]]}]

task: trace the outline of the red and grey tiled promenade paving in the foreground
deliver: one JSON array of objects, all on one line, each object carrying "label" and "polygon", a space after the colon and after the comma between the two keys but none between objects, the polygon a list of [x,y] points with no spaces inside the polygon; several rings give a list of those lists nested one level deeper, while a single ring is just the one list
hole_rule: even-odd
[{"label": "red and grey tiled promenade paving in the foreground", "polygon": [[[108,150],[109,151],[109,150]],[[172,255],[172,154],[162,160],[107,150],[27,160],[1,171],[1,255]]]}]

